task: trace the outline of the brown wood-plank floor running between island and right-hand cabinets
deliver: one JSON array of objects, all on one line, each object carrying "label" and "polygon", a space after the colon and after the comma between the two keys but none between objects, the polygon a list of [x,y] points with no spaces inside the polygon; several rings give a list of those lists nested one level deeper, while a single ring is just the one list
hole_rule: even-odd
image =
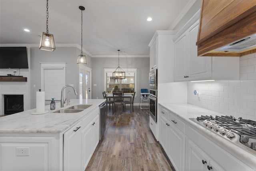
[{"label": "brown wood-plank floor running between island and right-hand cabinets", "polygon": [[[112,109],[112,108],[111,108]],[[106,131],[86,171],[175,171],[149,127],[148,109],[108,107]]]}]

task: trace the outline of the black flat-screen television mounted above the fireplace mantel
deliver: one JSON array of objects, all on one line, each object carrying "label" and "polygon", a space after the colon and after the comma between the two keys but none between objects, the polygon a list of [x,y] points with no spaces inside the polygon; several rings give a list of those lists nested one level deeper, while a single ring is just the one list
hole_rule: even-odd
[{"label": "black flat-screen television mounted above the fireplace mantel", "polygon": [[28,68],[26,47],[0,47],[0,68]]}]

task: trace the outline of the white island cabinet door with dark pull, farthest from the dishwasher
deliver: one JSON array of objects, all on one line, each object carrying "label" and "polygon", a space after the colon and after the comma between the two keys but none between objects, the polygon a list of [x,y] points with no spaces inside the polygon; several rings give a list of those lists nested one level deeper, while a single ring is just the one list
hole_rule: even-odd
[{"label": "white island cabinet door with dark pull, farthest from the dishwasher", "polygon": [[82,162],[82,122],[78,122],[64,133],[64,171],[80,171]]}]

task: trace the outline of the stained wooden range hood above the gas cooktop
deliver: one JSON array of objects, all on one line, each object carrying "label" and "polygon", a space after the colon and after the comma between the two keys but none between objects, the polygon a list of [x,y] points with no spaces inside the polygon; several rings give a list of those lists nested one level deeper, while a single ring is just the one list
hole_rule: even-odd
[{"label": "stained wooden range hood above the gas cooktop", "polygon": [[198,29],[198,56],[244,56],[240,52],[216,51],[222,46],[256,34],[256,0],[202,0]]}]

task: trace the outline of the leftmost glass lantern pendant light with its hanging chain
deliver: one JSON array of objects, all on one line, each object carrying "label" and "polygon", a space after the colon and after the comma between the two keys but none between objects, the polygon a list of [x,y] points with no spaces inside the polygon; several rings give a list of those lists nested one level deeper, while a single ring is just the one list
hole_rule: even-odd
[{"label": "leftmost glass lantern pendant light with its hanging chain", "polygon": [[42,33],[39,49],[54,51],[55,44],[54,44],[53,34],[48,33],[48,17],[49,17],[48,0],[46,0],[46,33],[45,32]]}]

